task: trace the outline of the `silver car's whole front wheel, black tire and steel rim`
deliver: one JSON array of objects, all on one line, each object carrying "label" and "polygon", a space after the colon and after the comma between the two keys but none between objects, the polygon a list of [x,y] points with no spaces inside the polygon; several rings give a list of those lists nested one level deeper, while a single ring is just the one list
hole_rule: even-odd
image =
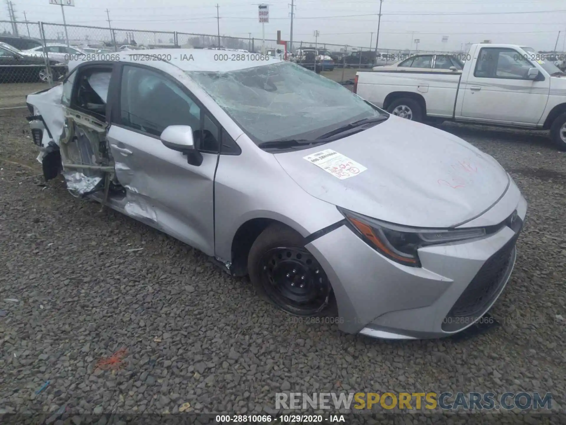
[{"label": "silver car's whole front wheel, black tire and steel rim", "polygon": [[248,273],[258,295],[294,316],[336,316],[331,283],[305,239],[276,223],[260,233],[248,254]]}]

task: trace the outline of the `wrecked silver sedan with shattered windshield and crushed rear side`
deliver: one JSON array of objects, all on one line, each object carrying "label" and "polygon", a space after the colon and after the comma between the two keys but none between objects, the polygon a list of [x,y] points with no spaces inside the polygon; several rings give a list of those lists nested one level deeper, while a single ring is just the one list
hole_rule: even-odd
[{"label": "wrecked silver sedan with shattered windshield and crushed rear side", "polygon": [[46,180],[344,332],[444,337],[495,303],[526,215],[495,159],[294,63],[172,52],[71,62],[27,97]]}]

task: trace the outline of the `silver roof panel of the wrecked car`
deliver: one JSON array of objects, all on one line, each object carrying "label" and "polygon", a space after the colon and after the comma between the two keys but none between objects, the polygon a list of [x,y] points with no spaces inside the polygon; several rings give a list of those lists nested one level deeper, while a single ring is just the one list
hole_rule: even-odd
[{"label": "silver roof panel of the wrecked car", "polygon": [[[238,59],[236,55],[239,55]],[[169,66],[174,65],[183,71],[211,72],[236,71],[284,62],[273,56],[262,56],[259,53],[221,53],[220,50],[206,49],[151,49],[135,52],[112,52],[101,54],[100,60],[103,60],[104,56],[108,56],[109,62],[140,63],[141,65],[148,65],[161,70],[166,70]],[[245,60],[240,60],[242,56]],[[163,58],[170,58],[170,61],[164,61],[162,60]],[[83,62],[88,61],[79,59],[78,61],[69,62],[69,71]]]}]

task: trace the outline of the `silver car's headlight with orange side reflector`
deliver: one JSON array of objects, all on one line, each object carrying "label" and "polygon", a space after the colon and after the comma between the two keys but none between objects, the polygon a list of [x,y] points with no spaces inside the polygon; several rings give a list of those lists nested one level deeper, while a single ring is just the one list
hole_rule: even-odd
[{"label": "silver car's headlight with orange side reflector", "polygon": [[484,228],[425,229],[381,222],[338,207],[358,236],[385,257],[400,264],[420,267],[417,250],[428,245],[475,239],[486,235]]}]

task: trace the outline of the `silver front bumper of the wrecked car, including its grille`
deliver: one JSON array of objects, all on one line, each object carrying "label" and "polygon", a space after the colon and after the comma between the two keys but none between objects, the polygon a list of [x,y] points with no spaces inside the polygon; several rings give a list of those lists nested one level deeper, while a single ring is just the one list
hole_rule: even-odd
[{"label": "silver front bumper of the wrecked car, including its grille", "polygon": [[511,276],[515,242],[526,215],[522,196],[513,210],[518,216],[513,226],[488,237],[419,249],[422,267],[381,256],[347,226],[312,241],[306,248],[332,283],[339,329],[378,338],[420,339],[445,337],[471,326],[491,308]]}]

